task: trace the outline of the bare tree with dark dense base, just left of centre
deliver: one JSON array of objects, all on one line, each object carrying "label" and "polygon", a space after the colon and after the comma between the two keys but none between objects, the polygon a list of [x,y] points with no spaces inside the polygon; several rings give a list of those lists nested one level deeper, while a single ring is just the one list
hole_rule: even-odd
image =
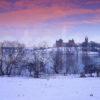
[{"label": "bare tree with dark dense base, just left of centre", "polygon": [[30,61],[28,64],[30,76],[33,76],[32,73],[34,73],[34,77],[39,78],[40,74],[45,73],[45,66],[47,64],[46,53],[47,48],[44,45],[38,48],[33,48],[33,61]]}]

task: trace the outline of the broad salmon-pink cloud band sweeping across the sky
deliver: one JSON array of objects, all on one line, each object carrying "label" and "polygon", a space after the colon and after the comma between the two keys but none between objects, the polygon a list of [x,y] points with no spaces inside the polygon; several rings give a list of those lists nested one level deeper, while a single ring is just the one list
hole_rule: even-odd
[{"label": "broad salmon-pink cloud band sweeping across the sky", "polygon": [[[15,12],[0,14],[0,26],[28,26],[37,25],[38,23],[45,23],[48,20],[56,20],[64,16],[76,15],[86,15],[86,14],[100,14],[100,9],[88,10],[88,9],[73,9],[73,8],[63,8],[63,7],[50,7],[50,8],[39,8],[34,7],[28,10],[18,10]],[[91,19],[91,16],[89,17]],[[96,17],[94,17],[95,19]],[[62,19],[63,20],[63,19]],[[69,19],[68,19],[69,20]],[[86,19],[88,20],[88,18]]]}]

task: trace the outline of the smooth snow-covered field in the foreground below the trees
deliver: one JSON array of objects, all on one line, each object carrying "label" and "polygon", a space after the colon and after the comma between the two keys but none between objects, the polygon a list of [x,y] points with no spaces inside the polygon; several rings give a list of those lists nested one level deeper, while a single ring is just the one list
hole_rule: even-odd
[{"label": "smooth snow-covered field in the foreground below the trees", "polygon": [[0,100],[100,100],[100,79],[1,77]]}]

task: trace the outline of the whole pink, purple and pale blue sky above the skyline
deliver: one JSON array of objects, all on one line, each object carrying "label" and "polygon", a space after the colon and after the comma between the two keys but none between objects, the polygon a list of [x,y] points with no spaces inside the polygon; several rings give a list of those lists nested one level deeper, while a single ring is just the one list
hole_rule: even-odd
[{"label": "whole pink, purple and pale blue sky above the skyline", "polygon": [[0,41],[100,42],[100,0],[0,0]]}]

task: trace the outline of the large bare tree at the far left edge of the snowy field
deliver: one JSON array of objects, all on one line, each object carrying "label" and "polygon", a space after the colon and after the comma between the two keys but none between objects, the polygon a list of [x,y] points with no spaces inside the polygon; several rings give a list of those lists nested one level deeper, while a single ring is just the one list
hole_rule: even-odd
[{"label": "large bare tree at the far left edge of the snowy field", "polygon": [[[17,46],[13,44],[13,42],[2,43],[1,47],[1,66],[0,71],[2,75],[11,75],[12,71],[16,72],[16,67],[19,66],[19,62],[22,61],[22,45],[16,43]],[[9,45],[8,45],[9,44]],[[13,46],[12,46],[13,45]]]}]

